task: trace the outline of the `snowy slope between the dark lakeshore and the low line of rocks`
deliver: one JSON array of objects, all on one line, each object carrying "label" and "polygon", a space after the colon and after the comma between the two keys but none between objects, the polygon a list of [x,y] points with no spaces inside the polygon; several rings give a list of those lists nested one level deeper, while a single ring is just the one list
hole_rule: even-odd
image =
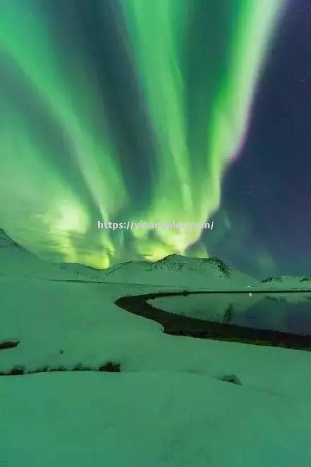
[{"label": "snowy slope between the dark lakeshore and the low line of rocks", "polygon": [[152,290],[156,288],[0,278],[0,342],[19,341],[13,349],[0,350],[0,372],[17,365],[34,371],[79,363],[95,369],[110,360],[130,372],[235,373],[243,386],[311,397],[309,352],[169,336],[158,323],[114,303]]}]

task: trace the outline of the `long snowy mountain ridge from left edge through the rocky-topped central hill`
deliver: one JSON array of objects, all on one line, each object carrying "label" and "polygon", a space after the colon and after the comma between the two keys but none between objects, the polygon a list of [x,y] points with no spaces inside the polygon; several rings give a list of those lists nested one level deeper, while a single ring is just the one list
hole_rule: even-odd
[{"label": "long snowy mountain ridge from left edge through the rocky-topped central hill", "polygon": [[81,264],[50,263],[36,257],[0,229],[0,276],[92,280],[182,287],[241,290],[260,283],[218,258],[170,255],[156,262],[132,261],[97,270]]}]

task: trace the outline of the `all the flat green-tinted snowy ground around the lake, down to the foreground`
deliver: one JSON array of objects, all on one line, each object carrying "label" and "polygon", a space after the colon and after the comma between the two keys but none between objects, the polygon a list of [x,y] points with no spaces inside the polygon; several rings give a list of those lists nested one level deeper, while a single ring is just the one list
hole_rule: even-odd
[{"label": "all the flat green-tinted snowy ground around the lake, down to the foreground", "polygon": [[1,467],[310,465],[311,353],[168,336],[114,304],[172,286],[4,273],[0,342],[19,343],[0,350],[0,372],[121,373],[0,376]]}]

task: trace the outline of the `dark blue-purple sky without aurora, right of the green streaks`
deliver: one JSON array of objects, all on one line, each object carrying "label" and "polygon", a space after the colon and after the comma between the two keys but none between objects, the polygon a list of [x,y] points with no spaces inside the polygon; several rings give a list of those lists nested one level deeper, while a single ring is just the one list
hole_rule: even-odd
[{"label": "dark blue-purple sky without aurora, right of the green streaks", "polygon": [[[223,180],[209,251],[258,276],[311,272],[311,1],[291,1],[266,65],[247,141]],[[225,227],[230,223],[231,228]]]}]

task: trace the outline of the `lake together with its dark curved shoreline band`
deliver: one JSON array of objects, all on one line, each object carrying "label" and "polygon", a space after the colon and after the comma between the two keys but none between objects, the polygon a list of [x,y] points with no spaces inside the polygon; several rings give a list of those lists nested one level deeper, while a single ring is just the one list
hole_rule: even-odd
[{"label": "lake together with its dark curved shoreline band", "polygon": [[311,292],[162,293],[116,304],[167,334],[311,350]]}]

